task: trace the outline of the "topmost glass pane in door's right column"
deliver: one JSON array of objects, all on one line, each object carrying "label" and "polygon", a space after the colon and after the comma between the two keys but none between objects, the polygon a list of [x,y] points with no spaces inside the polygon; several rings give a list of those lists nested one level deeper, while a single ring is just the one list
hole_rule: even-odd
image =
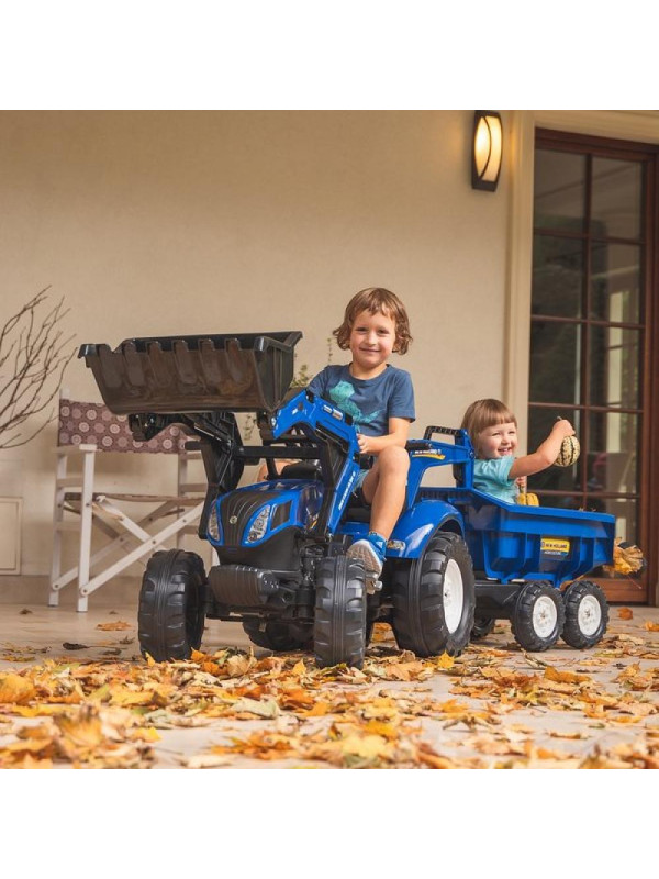
[{"label": "topmost glass pane in door's right column", "polygon": [[599,237],[638,238],[641,165],[593,158],[591,233]]}]

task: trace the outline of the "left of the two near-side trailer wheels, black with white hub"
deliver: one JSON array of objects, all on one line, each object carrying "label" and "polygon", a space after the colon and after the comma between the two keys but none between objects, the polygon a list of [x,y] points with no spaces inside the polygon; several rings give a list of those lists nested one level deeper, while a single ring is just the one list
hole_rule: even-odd
[{"label": "left of the two near-side trailer wheels, black with white hub", "polygon": [[525,650],[540,653],[552,647],[566,621],[562,596],[548,582],[522,587],[511,625],[517,644]]}]

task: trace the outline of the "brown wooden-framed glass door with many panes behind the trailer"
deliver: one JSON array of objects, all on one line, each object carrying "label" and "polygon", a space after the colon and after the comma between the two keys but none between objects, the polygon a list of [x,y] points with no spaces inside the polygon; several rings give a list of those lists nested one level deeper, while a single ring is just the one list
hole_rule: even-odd
[{"label": "brown wooden-framed glass door with many panes behind the trailer", "polygon": [[[536,137],[528,448],[562,416],[581,456],[529,478],[528,490],[541,504],[612,513],[617,536],[641,549],[654,159],[607,142]],[[648,600],[647,570],[596,575],[612,600]]]}]

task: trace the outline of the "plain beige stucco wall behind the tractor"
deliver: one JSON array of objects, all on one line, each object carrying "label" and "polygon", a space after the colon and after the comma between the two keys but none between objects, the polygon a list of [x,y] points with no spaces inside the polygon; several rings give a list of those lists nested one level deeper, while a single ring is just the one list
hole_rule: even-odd
[{"label": "plain beige stucco wall behind the tractor", "polygon": [[[348,298],[381,285],[411,315],[393,363],[414,379],[413,435],[456,424],[504,389],[510,175],[471,189],[471,125],[470,111],[0,112],[2,323],[52,285],[76,344],[300,329],[313,372]],[[99,399],[81,361],[66,385]],[[49,569],[54,444],[49,426],[0,452],[27,575]],[[172,479],[160,459],[107,466],[118,485]]]}]

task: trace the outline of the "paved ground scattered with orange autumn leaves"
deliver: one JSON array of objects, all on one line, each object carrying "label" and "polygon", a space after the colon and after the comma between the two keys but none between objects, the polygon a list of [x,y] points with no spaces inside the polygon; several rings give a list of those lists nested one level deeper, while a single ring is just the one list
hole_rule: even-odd
[{"label": "paved ground scattered with orange autumn leaves", "polygon": [[659,768],[659,624],[623,610],[585,652],[526,654],[501,622],[418,659],[378,625],[361,670],[233,647],[123,658],[123,620],[58,653],[0,643],[0,767]]}]

